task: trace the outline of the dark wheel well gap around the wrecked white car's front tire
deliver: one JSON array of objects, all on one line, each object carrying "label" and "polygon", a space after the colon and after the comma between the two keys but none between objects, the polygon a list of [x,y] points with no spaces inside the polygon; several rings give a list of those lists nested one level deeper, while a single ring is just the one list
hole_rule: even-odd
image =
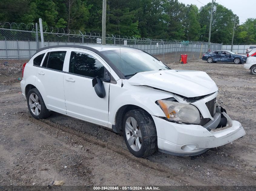
[{"label": "dark wheel well gap around the wrecked white car's front tire", "polygon": [[[120,134],[122,132],[122,122],[123,122],[125,113],[127,113],[130,110],[136,110],[136,109],[144,110],[143,108],[138,107],[136,105],[124,105],[124,106],[120,107],[115,115],[115,125],[112,125],[113,131]],[[146,110],[144,110],[144,111],[146,113],[148,113]],[[151,117],[151,115],[149,113],[148,113],[148,115]]]}]

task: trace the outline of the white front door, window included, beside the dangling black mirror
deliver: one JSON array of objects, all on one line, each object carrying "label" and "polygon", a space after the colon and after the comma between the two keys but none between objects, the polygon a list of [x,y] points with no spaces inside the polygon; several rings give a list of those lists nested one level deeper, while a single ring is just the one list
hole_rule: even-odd
[{"label": "white front door, window included, beside the dangling black mirror", "polygon": [[101,58],[87,50],[70,49],[64,73],[67,114],[85,121],[108,126],[108,96],[110,82],[103,81],[106,96],[100,98],[92,87],[92,79],[104,78],[110,68]]}]

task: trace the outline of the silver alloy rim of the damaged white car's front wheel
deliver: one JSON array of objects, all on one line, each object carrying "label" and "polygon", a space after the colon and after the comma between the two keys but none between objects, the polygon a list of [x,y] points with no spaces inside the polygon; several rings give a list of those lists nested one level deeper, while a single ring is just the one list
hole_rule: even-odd
[{"label": "silver alloy rim of the damaged white car's front wheel", "polygon": [[125,122],[125,134],[131,148],[134,151],[139,151],[142,144],[141,129],[133,117],[128,117]]}]

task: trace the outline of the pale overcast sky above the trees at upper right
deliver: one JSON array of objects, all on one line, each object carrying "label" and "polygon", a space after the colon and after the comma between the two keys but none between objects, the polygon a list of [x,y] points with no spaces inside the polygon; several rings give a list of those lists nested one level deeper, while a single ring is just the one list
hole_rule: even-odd
[{"label": "pale overcast sky above the trees at upper right", "polygon": [[[179,2],[197,5],[198,8],[206,5],[211,0],[178,0]],[[200,3],[201,2],[201,3]],[[204,5],[203,5],[203,4]],[[240,24],[246,21],[247,18],[256,18],[255,0],[216,0],[216,3],[231,9],[234,14],[238,15]]]}]

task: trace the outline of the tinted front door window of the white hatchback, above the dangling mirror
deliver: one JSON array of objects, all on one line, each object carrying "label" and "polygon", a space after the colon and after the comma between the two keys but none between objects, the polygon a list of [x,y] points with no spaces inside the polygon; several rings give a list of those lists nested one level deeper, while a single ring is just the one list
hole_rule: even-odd
[{"label": "tinted front door window of the white hatchback, above the dangling mirror", "polygon": [[95,78],[104,78],[104,66],[89,54],[71,52],[69,72]]}]

